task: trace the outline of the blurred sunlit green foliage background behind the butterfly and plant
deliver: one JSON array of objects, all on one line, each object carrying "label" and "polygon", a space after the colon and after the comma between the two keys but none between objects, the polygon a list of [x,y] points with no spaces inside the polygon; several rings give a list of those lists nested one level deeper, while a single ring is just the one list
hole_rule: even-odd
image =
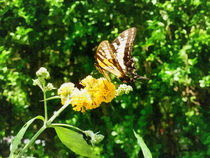
[{"label": "blurred sunlit green foliage background behind the butterfly and plant", "polygon": [[[209,157],[209,8],[207,0],[0,0],[0,155],[8,156],[12,136],[26,121],[44,115],[42,92],[32,85],[40,67],[56,88],[99,77],[99,43],[136,27],[132,54],[138,74],[150,81],[84,114],[69,107],[55,122],[100,131],[105,139],[97,150],[104,158],[142,157],[133,129],[153,157]],[[49,115],[60,106],[50,101]],[[35,122],[23,143],[40,126]],[[78,157],[53,129],[26,155]]]}]

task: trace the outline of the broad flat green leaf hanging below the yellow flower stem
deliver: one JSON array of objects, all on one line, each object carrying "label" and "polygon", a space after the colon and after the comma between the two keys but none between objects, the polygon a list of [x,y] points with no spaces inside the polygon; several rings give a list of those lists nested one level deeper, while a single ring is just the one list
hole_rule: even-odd
[{"label": "broad flat green leaf hanging below the yellow flower stem", "polygon": [[96,157],[91,145],[83,138],[81,133],[64,127],[54,127],[61,142],[76,154],[86,157]]}]

